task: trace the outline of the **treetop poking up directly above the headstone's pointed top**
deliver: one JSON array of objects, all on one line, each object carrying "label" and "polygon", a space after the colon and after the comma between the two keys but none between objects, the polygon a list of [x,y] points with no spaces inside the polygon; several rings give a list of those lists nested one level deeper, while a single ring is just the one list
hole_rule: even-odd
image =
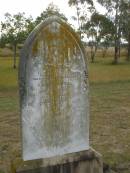
[{"label": "treetop poking up directly above the headstone's pointed top", "polygon": [[40,16],[38,16],[36,18],[35,24],[39,24],[40,22],[42,22],[43,20],[45,20],[46,18],[50,17],[50,16],[58,16],[60,18],[62,18],[63,20],[67,21],[67,18],[65,17],[65,15],[63,13],[60,12],[59,8],[54,5],[53,3],[50,3],[48,5],[48,7],[46,8],[45,11],[43,11]]}]

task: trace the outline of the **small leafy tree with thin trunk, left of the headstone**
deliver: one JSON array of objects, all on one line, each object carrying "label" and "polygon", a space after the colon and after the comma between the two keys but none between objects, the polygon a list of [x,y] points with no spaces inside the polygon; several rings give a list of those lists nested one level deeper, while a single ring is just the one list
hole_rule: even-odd
[{"label": "small leafy tree with thin trunk, left of the headstone", "polygon": [[10,43],[13,47],[13,68],[16,68],[17,45],[23,43],[33,28],[34,24],[31,16],[26,18],[25,13],[5,14],[5,21],[1,22],[1,38],[5,43]]}]

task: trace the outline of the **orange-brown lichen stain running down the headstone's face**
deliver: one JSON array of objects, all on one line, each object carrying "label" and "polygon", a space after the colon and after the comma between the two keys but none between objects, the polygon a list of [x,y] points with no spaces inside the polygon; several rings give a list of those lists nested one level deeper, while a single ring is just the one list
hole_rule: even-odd
[{"label": "orange-brown lichen stain running down the headstone's face", "polygon": [[[67,116],[67,112],[71,111],[71,91],[70,86],[64,86],[64,76],[63,73],[66,73],[66,78],[69,77],[71,65],[74,61],[74,56],[79,54],[79,48],[75,40],[72,38],[70,33],[67,32],[66,28],[60,26],[58,23],[55,23],[55,26],[58,28],[57,32],[52,32],[53,23],[48,25],[44,30],[41,31],[39,36],[36,38],[33,46],[33,55],[38,53],[38,42],[44,40],[44,52],[43,55],[40,55],[45,59],[45,76],[46,76],[46,91],[48,91],[48,102],[50,103],[49,109],[45,112],[45,119],[43,126],[45,134],[49,134],[49,137],[46,136],[47,145],[65,145],[68,142],[69,137],[69,123],[70,117]],[[68,79],[69,80],[69,79]],[[65,94],[64,94],[65,92]],[[63,97],[66,97],[66,108],[65,112],[61,112],[61,102]],[[67,116],[64,119],[64,115]],[[62,115],[62,117],[61,117]],[[62,128],[62,127],[65,128]],[[58,130],[57,130],[58,129]],[[59,134],[55,134],[57,133]],[[64,134],[61,136],[60,134]],[[64,139],[60,144],[60,137]]]}]

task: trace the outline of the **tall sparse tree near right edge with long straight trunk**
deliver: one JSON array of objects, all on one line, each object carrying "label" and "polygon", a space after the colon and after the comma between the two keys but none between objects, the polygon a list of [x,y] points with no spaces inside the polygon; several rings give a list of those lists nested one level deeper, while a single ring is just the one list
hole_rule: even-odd
[{"label": "tall sparse tree near right edge with long straight trunk", "polygon": [[[106,9],[108,10],[107,16],[109,16],[114,23],[114,27],[115,27],[114,35],[113,35],[114,42],[115,42],[114,63],[117,64],[118,59],[120,57],[120,45],[121,45],[122,32],[123,30],[125,30],[125,27],[126,27],[126,25],[124,25],[124,21],[125,23],[127,23],[127,28],[129,28],[128,27],[129,19],[127,18],[128,16],[127,14],[129,14],[130,1],[129,0],[107,0],[107,1],[98,0],[98,2],[102,6],[106,7]],[[130,40],[129,38],[130,37],[127,37],[127,40]],[[129,43],[129,47],[130,47],[130,43]],[[130,57],[130,48],[128,49],[129,49],[128,51],[129,51],[129,57]]]}]

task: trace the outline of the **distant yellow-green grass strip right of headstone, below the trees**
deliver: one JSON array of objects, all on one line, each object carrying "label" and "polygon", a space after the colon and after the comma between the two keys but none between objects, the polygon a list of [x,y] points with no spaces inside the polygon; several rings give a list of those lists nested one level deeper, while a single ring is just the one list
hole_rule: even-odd
[{"label": "distant yellow-green grass strip right of headstone, below the trees", "polygon": [[90,81],[94,83],[130,81],[130,63],[121,59],[119,64],[112,65],[112,61],[112,58],[101,58],[90,64]]}]

